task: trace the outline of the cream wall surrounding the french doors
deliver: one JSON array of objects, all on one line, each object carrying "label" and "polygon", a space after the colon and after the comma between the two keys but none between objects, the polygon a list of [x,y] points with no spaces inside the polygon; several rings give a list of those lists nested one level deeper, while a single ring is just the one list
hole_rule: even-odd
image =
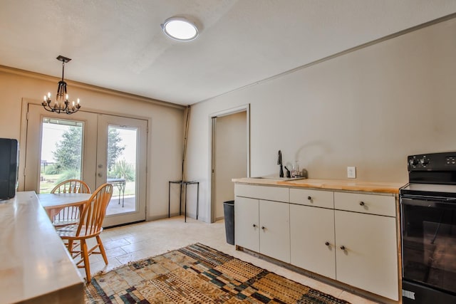
[{"label": "cream wall surrounding the french doors", "polygon": [[[41,77],[0,66],[0,137],[19,140],[22,98],[41,103],[41,96],[48,91],[55,94],[57,83],[57,78]],[[183,108],[158,105],[154,100],[147,102],[145,98],[117,94],[109,90],[94,90],[87,85],[72,85],[70,81],[68,94],[81,98],[81,104],[86,109],[150,119],[147,219],[167,216],[168,181],[181,179]],[[20,153],[24,153],[24,150],[21,149]],[[19,172],[23,172],[21,167]],[[178,198],[176,200],[178,201]],[[172,204],[177,212],[178,202]]]}]

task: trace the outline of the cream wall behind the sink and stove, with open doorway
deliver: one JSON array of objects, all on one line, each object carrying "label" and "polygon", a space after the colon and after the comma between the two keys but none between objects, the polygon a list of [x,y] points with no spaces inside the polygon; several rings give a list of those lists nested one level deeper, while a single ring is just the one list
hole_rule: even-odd
[{"label": "cream wall behind the sink and stove, with open doorway", "polygon": [[187,177],[201,182],[199,210],[210,202],[208,117],[239,105],[251,104],[252,176],[278,172],[282,150],[310,178],[346,179],[356,166],[357,180],[405,183],[409,154],[456,150],[455,33],[452,19],[193,105]]}]

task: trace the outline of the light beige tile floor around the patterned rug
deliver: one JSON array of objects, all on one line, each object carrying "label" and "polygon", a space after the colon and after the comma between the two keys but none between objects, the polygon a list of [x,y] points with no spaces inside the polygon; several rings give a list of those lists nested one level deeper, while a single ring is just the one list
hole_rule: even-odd
[{"label": "light beige tile floor around the patterned rug", "polygon": [[[171,219],[160,219],[105,229],[101,234],[101,239],[103,240],[109,263],[108,266],[105,266],[100,255],[90,256],[90,273],[92,274],[101,270],[110,271],[130,261],[157,256],[167,251],[199,242],[290,278],[293,281],[321,290],[337,298],[348,300],[353,304],[375,303],[331,285],[302,276],[249,253],[236,251],[234,246],[226,242],[223,220],[208,224],[187,217],[187,223],[185,223],[183,216],[175,216]],[[84,270],[81,268],[80,271],[82,276],[85,277]]]}]

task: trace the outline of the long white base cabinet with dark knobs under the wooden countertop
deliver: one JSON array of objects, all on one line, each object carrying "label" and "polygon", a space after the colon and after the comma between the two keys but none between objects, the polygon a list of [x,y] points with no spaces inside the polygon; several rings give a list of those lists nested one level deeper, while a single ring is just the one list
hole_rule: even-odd
[{"label": "long white base cabinet with dark knobs under the wooden countertop", "polygon": [[236,245],[398,300],[394,195],[246,184],[235,193]]}]

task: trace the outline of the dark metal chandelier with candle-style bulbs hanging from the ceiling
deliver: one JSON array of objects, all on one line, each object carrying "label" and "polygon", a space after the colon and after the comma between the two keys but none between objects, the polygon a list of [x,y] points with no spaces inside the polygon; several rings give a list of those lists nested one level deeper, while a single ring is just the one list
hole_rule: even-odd
[{"label": "dark metal chandelier with candle-style bulbs hanging from the ceiling", "polygon": [[56,112],[56,113],[66,113],[66,114],[73,114],[78,112],[79,108],[81,108],[81,105],[79,105],[79,98],[77,103],[74,101],[71,103],[68,102],[68,94],[66,93],[66,82],[63,80],[63,73],[65,71],[65,63],[68,61],[71,61],[71,58],[66,58],[63,56],[58,56],[56,58],[58,61],[62,62],[62,80],[58,82],[58,88],[57,88],[57,95],[56,95],[56,100],[52,102],[51,100],[51,93],[48,93],[48,95],[44,95],[44,101],[41,103],[43,105],[43,108],[46,109],[46,111],[49,112]]}]

